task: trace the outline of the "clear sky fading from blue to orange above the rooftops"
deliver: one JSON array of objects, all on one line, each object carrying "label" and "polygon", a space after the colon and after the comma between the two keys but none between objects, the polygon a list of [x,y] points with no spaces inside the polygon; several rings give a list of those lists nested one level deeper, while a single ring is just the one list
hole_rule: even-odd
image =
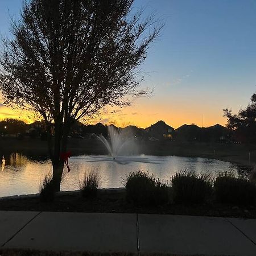
[{"label": "clear sky fading from blue to orange above the rooftops", "polygon": [[[19,17],[21,3],[0,1],[2,35],[9,35],[9,17]],[[92,122],[225,125],[222,109],[236,113],[249,104],[256,91],[256,1],[135,0],[134,8],[140,7],[165,23],[141,67],[146,73],[141,88],[154,93],[126,108],[106,108]],[[0,118],[5,117],[31,121],[0,102]]]}]

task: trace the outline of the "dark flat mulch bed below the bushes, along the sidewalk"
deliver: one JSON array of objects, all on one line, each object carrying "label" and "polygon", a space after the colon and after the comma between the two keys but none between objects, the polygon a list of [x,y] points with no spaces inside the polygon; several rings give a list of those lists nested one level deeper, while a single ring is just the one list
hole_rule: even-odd
[{"label": "dark flat mulch bed below the bushes, along the sidewalk", "polygon": [[0,210],[32,210],[39,212],[100,212],[100,213],[148,213],[193,216],[256,218],[256,206],[238,207],[219,204],[166,204],[152,207],[135,207],[127,203],[125,191],[101,191],[94,199],[83,199],[79,192],[63,193],[50,203],[41,203],[39,197],[22,197],[0,200]]}]

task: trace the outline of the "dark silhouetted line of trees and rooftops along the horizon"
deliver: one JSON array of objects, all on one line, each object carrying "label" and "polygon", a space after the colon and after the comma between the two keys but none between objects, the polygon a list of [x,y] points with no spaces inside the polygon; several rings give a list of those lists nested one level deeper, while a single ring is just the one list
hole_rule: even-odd
[{"label": "dark silhouetted line of trees and rooftops along the horizon", "polygon": [[[182,125],[177,129],[167,125],[164,121],[158,121],[146,129],[129,125],[122,130],[122,134],[127,137],[133,136],[135,139],[147,141],[180,141],[180,142],[244,142],[241,135],[222,125],[210,127],[199,127],[196,125]],[[46,140],[46,129],[44,122],[34,122],[27,124],[17,119],[4,119],[0,122],[0,134],[2,137],[11,136],[22,138],[41,138]],[[96,125],[84,125],[76,122],[69,137],[71,138],[96,138],[97,135],[108,137],[108,126],[102,123]]]}]

